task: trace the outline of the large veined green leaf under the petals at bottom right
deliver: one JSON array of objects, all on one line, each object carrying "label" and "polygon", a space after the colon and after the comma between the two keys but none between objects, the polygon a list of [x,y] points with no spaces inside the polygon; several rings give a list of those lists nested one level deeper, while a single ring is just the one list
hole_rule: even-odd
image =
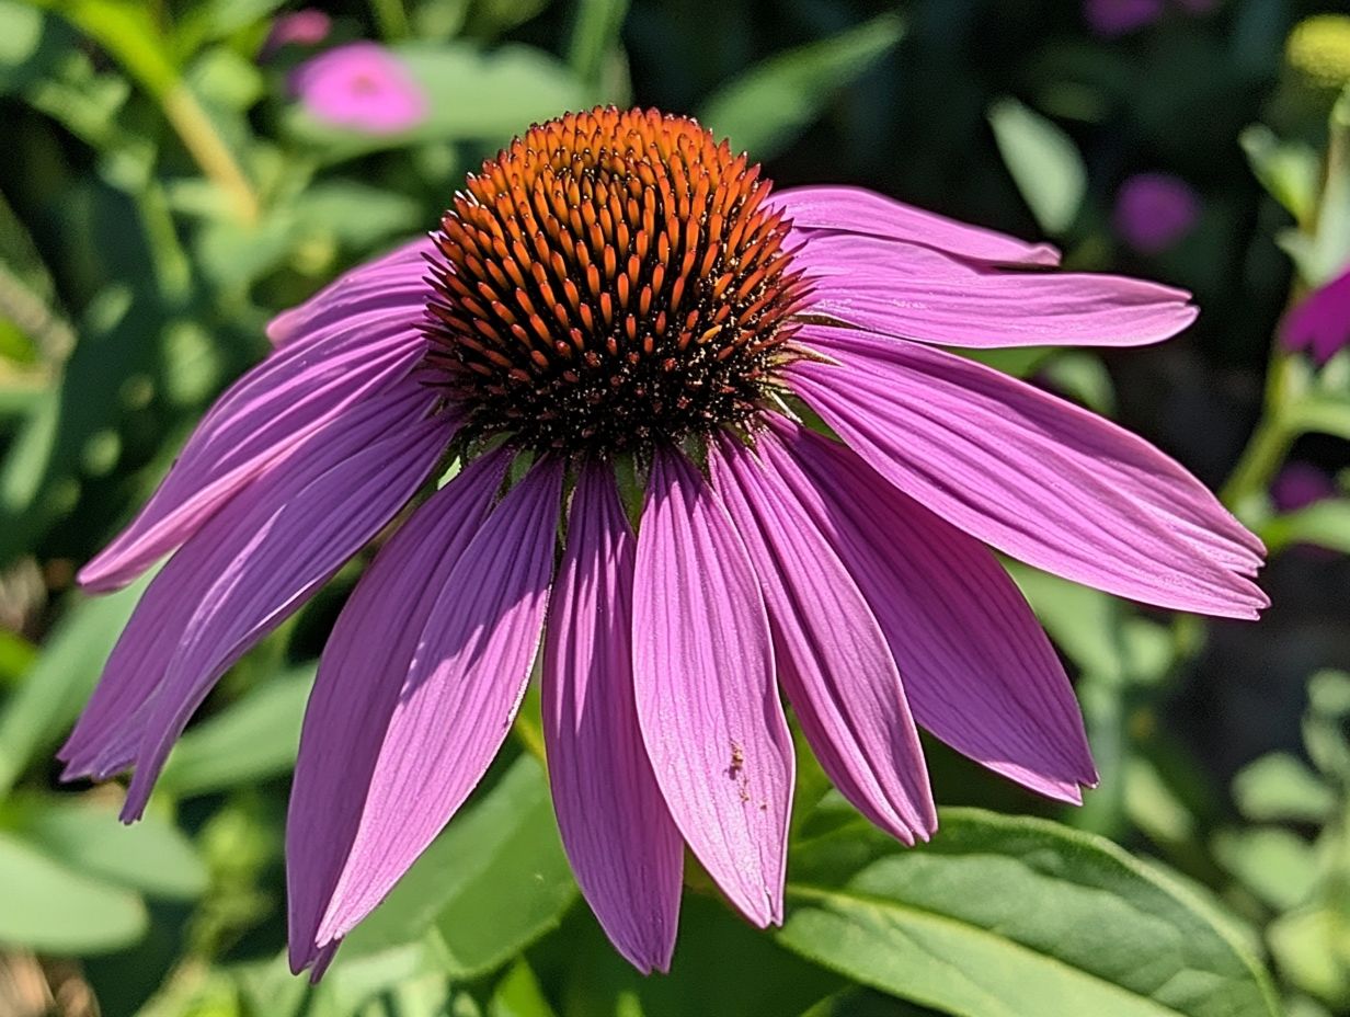
[{"label": "large veined green leaf under the petals at bottom right", "polygon": [[1203,901],[1115,844],[950,809],[905,848],[857,821],[796,847],[782,941],[961,1017],[1273,1017],[1269,978]]}]

